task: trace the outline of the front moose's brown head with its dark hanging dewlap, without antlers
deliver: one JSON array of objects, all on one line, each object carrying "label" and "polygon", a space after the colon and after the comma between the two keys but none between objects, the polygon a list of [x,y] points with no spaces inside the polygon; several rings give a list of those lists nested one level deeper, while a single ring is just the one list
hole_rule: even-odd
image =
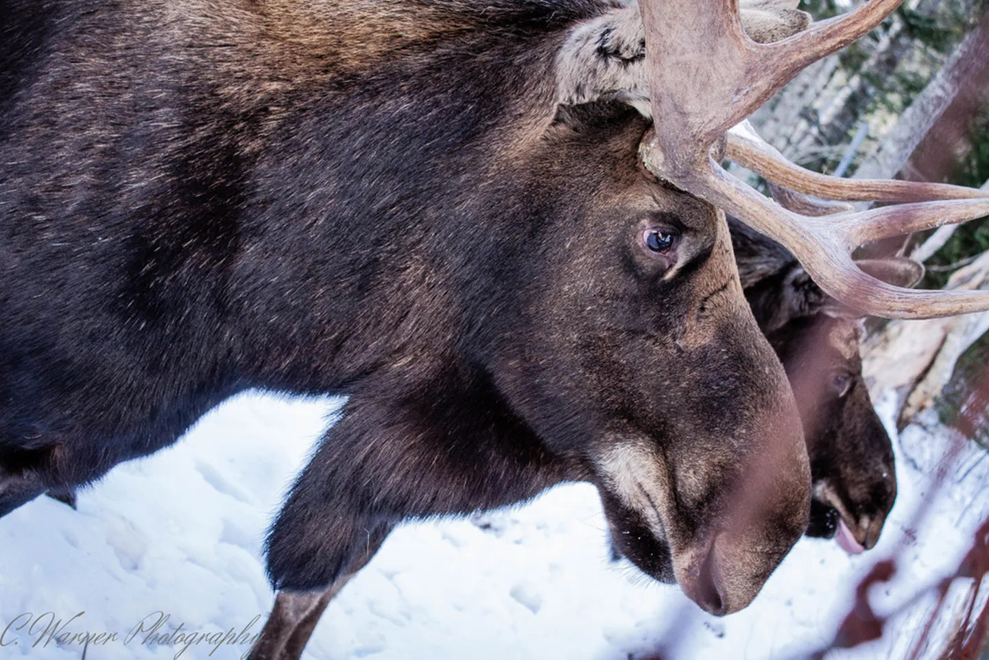
[{"label": "front moose's brown head with its dark hanging dewlap, without antlers", "polygon": [[[351,395],[273,527],[281,589],[313,588],[314,566],[341,570],[349,547],[336,547],[352,524],[508,504],[563,477],[598,487],[617,545],[647,574],[712,613],[756,596],[807,526],[803,434],[723,214],[642,166],[649,128],[621,103],[561,108],[515,154],[511,175],[441,236],[449,250],[486,228],[483,244],[453,250],[472,264],[451,275],[470,278],[457,304],[474,330],[453,353],[456,372],[448,362],[433,378],[455,384],[416,384],[396,409],[397,386],[376,383],[375,399],[388,402],[380,411],[363,391]],[[390,378],[403,382],[403,371]],[[476,455],[505,446],[538,474]],[[363,511],[347,495],[360,494],[352,475],[373,488]],[[319,533],[328,520],[347,529]]]}]

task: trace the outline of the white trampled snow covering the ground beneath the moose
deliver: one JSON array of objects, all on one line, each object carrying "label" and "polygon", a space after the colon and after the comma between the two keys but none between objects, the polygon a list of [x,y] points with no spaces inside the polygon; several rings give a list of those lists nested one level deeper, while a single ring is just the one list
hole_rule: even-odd
[{"label": "white trampled snow covering the ground beneath the moose", "polygon": [[[41,499],[0,519],[0,658],[80,658],[81,644],[46,634],[58,620],[59,633],[105,633],[87,660],[240,657],[245,644],[187,633],[232,629],[236,642],[260,630],[273,600],[265,526],[340,403],[237,397],[175,447],[117,467],[80,495],[77,512]],[[595,491],[576,484],[526,507],[398,529],[330,605],[307,657],[628,660],[662,644],[667,658],[802,657],[832,638],[857,578],[896,547],[899,577],[873,593],[880,613],[967,550],[989,514],[982,452],[966,448],[927,517],[912,522],[946,438],[919,426],[899,438],[900,495],[877,548],[850,557],[803,539],[742,613],[714,618],[610,563]],[[904,657],[925,603],[882,640],[829,657]],[[166,636],[176,629],[186,636]]]}]

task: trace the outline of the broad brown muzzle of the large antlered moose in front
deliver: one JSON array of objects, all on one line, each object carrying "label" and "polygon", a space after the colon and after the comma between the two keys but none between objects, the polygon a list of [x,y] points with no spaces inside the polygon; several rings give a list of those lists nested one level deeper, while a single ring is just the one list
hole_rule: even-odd
[{"label": "broad brown muzzle of the large antlered moose in front", "polygon": [[807,528],[810,467],[787,403],[754,415],[759,431],[608,438],[595,462],[615,549],[708,613],[748,606]]}]

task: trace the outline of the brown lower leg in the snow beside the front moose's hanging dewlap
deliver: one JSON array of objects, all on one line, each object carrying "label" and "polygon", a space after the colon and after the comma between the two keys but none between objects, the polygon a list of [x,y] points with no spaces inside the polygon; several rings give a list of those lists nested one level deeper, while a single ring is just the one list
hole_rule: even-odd
[{"label": "brown lower leg in the snow beside the front moose's hanging dewlap", "polygon": [[391,530],[391,525],[381,525],[369,533],[346,573],[327,589],[309,593],[279,592],[248,660],[299,660],[329,602],[371,561]]}]

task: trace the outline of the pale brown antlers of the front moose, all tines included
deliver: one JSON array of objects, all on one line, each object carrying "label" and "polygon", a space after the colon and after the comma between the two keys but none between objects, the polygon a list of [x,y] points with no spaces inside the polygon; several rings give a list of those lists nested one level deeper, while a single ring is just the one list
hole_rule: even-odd
[{"label": "pale brown antlers of the front moose, all tines included", "polygon": [[[781,154],[766,151],[759,141],[755,148],[739,131],[728,135],[802,68],[854,42],[901,1],[871,0],[783,41],[756,44],[742,29],[738,0],[640,0],[659,128],[643,141],[643,160],[658,177],[782,243],[824,291],[856,310],[894,319],[989,310],[987,293],[891,286],[860,270],[851,255],[868,240],[989,215],[984,193],[896,181],[836,183],[833,177],[783,165]],[[722,169],[712,157],[712,146],[721,141],[740,163],[801,193],[855,201],[939,201],[841,216],[799,215]]]}]

